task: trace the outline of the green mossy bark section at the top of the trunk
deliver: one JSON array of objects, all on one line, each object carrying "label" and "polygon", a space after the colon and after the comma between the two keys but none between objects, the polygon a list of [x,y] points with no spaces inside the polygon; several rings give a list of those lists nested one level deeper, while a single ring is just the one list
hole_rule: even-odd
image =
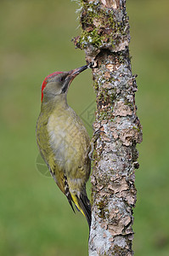
[{"label": "green mossy bark section at the top of the trunk", "polygon": [[115,10],[102,8],[99,1],[84,2],[82,4],[81,25],[82,34],[76,40],[76,46],[85,49],[88,44],[94,48],[114,48],[119,44],[122,37],[127,37],[126,20],[118,20]]}]

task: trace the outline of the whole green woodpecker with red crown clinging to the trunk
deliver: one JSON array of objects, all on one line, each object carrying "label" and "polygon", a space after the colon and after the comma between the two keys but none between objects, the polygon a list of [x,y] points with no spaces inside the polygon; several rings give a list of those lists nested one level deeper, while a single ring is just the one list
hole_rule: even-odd
[{"label": "whole green woodpecker with red crown clinging to the trunk", "polygon": [[90,139],[82,120],[66,99],[71,81],[85,69],[87,66],[70,72],[55,72],[44,79],[41,113],[37,119],[37,145],[73,211],[72,201],[90,227],[91,205],[86,192],[91,170]]}]

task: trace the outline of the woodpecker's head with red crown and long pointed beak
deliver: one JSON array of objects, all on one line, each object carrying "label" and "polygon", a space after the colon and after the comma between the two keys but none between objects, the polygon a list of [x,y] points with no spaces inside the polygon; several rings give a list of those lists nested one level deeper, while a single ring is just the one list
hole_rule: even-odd
[{"label": "woodpecker's head with red crown and long pointed beak", "polygon": [[69,72],[54,72],[49,74],[42,82],[42,100],[45,98],[48,101],[54,98],[54,96],[67,93],[71,81],[85,69],[87,69],[87,65],[70,70]]}]

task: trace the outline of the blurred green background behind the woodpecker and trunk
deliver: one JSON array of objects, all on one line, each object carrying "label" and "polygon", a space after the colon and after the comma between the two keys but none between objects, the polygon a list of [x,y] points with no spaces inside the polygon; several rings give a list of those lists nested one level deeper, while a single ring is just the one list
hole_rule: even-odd
[{"label": "blurred green background behind the woodpecker and trunk", "polygon": [[[0,3],[0,255],[87,255],[85,218],[71,211],[53,179],[36,166],[42,80],[85,64],[84,53],[70,42],[81,32],[77,8],[70,0]],[[127,1],[144,127],[136,172],[136,256],[169,255],[168,8],[166,0]],[[90,70],[71,84],[68,100],[78,114],[93,103],[91,84]]]}]

